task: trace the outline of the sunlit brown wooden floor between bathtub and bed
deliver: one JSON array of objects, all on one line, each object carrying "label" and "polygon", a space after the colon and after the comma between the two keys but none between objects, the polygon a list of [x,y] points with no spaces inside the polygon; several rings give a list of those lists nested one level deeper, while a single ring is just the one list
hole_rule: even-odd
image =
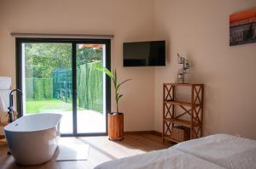
[{"label": "sunlit brown wooden floor between bathtub and bed", "polygon": [[[109,141],[108,137],[61,138],[64,141],[89,144],[89,159],[87,161],[55,161],[38,166],[18,166],[12,155],[7,155],[7,144],[0,144],[1,169],[87,169],[94,168],[104,161],[112,161],[126,156],[137,155],[156,149],[166,149],[170,143],[162,144],[161,138],[153,134],[127,134],[122,141]],[[24,153],[26,155],[26,153]]]}]

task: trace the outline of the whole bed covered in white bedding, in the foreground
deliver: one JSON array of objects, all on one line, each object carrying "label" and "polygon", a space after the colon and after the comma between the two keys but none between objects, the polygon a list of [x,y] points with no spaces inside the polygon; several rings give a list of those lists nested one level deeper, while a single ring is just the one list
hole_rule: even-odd
[{"label": "whole bed covered in white bedding, in the foreground", "polygon": [[256,169],[256,141],[216,134],[96,166],[96,169],[117,168]]}]

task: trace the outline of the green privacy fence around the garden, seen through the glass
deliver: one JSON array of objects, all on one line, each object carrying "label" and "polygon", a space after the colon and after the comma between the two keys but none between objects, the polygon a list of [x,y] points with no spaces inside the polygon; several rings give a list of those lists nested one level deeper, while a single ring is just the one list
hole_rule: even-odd
[{"label": "green privacy fence around the garden, seen through the glass", "polygon": [[[77,100],[79,108],[103,112],[102,71],[93,68],[96,61],[77,69]],[[52,78],[26,78],[26,99],[61,99],[72,102],[72,70],[55,69]]]}]

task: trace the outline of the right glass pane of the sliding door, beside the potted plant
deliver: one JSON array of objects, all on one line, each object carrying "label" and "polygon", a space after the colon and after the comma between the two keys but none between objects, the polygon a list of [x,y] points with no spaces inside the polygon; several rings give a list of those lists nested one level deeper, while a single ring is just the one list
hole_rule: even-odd
[{"label": "right glass pane of the sliding door, beside the potted plant", "polygon": [[95,67],[105,66],[105,44],[77,44],[78,133],[105,133],[105,75]]}]

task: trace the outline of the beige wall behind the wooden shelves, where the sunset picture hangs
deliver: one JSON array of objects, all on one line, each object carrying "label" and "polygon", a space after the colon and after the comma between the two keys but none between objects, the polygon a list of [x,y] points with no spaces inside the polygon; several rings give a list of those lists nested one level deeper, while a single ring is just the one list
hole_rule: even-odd
[{"label": "beige wall behind the wooden shelves, where the sunset picture hangs", "polygon": [[162,83],[176,82],[177,53],[191,60],[189,82],[205,84],[205,132],[256,139],[256,43],[229,46],[229,14],[255,0],[155,0],[157,38],[171,59],[154,71],[154,128],[162,127]]}]

